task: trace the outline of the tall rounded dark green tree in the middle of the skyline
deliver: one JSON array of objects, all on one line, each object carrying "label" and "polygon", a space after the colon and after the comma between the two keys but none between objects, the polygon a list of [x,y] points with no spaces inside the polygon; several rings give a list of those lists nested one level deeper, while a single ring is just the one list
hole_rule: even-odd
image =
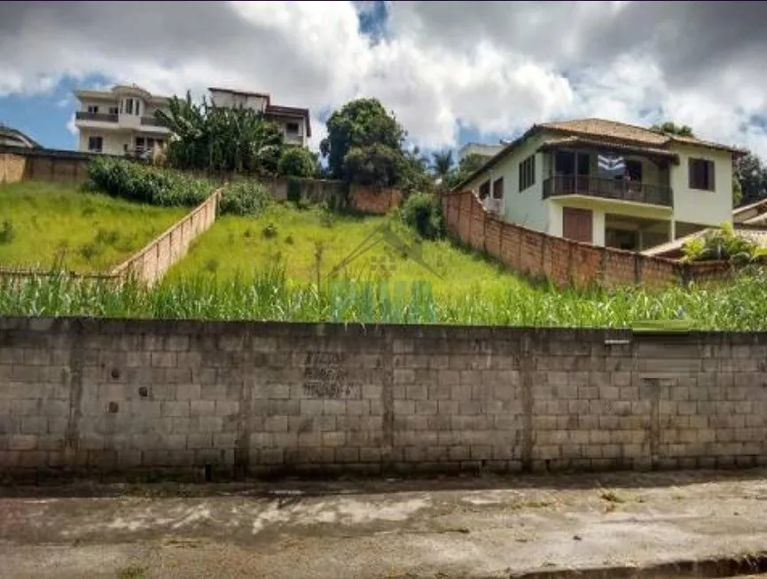
[{"label": "tall rounded dark green tree in the middle of the skyline", "polygon": [[357,98],[331,114],[320,152],[336,179],[399,184],[405,131],[377,98]]}]

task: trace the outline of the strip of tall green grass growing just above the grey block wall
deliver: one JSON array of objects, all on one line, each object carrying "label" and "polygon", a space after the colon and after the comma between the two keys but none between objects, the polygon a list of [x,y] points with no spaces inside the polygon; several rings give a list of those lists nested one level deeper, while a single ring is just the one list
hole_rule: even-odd
[{"label": "strip of tall green grass growing just above the grey block wall", "polygon": [[767,330],[767,273],[748,270],[729,286],[662,292],[626,288],[577,293],[477,286],[328,280],[294,283],[274,267],[250,278],[197,276],[147,288],[66,276],[0,281],[0,314],[275,320],[387,324],[630,327],[685,319],[702,330]]}]

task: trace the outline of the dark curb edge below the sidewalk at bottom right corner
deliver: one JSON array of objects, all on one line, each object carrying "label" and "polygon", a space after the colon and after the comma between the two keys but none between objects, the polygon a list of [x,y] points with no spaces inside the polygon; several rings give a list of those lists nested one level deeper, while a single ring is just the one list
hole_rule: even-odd
[{"label": "dark curb edge below the sidewalk at bottom right corner", "polygon": [[[536,569],[510,573],[509,579],[723,579],[767,573],[767,552],[747,555],[670,561],[643,567],[590,567],[583,569]],[[490,579],[488,577],[488,579]]]}]

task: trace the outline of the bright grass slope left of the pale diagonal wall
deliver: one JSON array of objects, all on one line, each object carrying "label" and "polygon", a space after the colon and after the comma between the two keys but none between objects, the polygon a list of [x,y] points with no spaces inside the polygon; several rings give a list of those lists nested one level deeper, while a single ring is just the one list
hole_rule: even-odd
[{"label": "bright grass slope left of the pale diagonal wall", "polygon": [[148,207],[74,185],[0,185],[0,268],[106,271],[168,229],[188,209]]}]

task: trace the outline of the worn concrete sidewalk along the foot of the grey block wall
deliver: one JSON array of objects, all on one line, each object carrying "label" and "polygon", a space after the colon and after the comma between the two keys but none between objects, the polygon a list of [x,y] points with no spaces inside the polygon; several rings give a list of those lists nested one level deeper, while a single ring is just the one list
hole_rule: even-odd
[{"label": "worn concrete sidewalk along the foot of the grey block wall", "polygon": [[753,555],[765,474],[0,489],[0,575],[447,579]]}]

